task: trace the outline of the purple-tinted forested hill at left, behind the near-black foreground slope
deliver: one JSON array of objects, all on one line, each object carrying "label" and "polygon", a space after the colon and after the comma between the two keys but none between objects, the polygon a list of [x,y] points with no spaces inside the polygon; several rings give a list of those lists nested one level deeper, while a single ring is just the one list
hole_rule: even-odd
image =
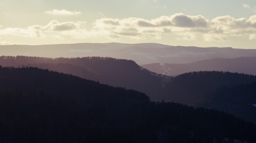
[{"label": "purple-tinted forested hill at left, behind the near-black foreground slope", "polygon": [[166,80],[171,77],[155,74],[134,61],[107,58],[42,58],[28,56],[1,56],[0,65],[39,67],[81,78],[99,81],[115,87],[125,87],[146,93],[150,99],[161,101]]}]

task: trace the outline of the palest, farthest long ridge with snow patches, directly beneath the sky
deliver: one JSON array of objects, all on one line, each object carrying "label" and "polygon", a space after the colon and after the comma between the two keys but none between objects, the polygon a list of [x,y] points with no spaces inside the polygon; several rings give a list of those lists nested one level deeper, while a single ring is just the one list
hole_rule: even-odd
[{"label": "palest, farthest long ridge with snow patches, directly beneath the sky", "polygon": [[256,49],[199,48],[158,43],[75,43],[55,45],[0,45],[5,56],[85,57],[101,56],[133,60],[139,65],[150,63],[191,63],[212,58],[255,56]]}]

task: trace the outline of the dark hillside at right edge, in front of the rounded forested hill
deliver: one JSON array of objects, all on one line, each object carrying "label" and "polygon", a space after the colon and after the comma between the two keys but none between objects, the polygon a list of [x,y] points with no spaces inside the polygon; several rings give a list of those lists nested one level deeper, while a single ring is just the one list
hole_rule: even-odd
[{"label": "dark hillside at right edge, in front of the rounded forested hill", "polygon": [[220,87],[209,96],[209,100],[197,106],[215,108],[256,123],[256,82]]}]

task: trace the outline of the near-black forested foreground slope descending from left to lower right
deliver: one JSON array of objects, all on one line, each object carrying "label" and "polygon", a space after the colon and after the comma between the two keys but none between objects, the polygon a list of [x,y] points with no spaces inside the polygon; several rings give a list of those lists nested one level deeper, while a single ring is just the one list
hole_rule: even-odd
[{"label": "near-black forested foreground slope descending from left to lower right", "polygon": [[0,143],[256,142],[233,115],[70,74],[0,66],[0,81]]}]

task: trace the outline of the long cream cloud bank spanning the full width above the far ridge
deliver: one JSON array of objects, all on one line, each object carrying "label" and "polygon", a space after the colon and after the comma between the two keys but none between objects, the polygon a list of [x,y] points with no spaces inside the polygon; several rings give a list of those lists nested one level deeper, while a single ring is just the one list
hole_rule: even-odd
[{"label": "long cream cloud bank spanning the full width above the far ridge", "polygon": [[[231,37],[256,39],[256,15],[249,18],[218,16],[212,20],[202,15],[175,13],[154,19],[127,17],[122,19],[100,18],[92,22],[91,29],[85,29],[86,22],[58,22],[52,20],[44,26],[0,29],[0,36],[23,36],[34,38],[73,39],[136,39],[160,40],[166,37],[196,41],[225,41]],[[1,27],[0,27],[1,28]]]}]

